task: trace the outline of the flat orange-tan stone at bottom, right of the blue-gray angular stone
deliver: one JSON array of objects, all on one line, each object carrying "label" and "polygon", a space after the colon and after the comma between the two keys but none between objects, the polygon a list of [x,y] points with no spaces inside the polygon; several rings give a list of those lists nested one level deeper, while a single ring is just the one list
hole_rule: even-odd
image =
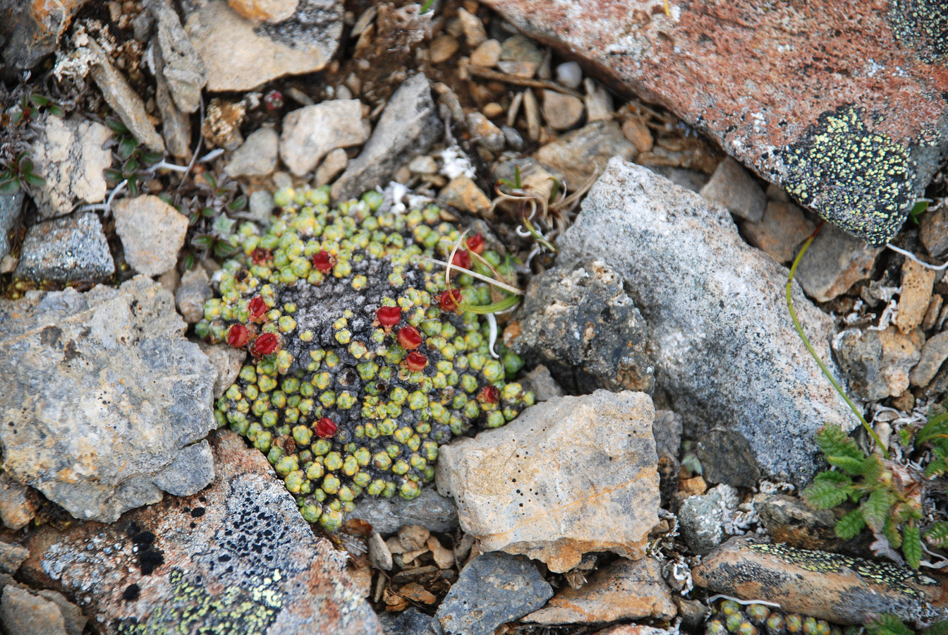
[{"label": "flat orange-tan stone at bottom, right of the blue-gray angular stone", "polygon": [[662,564],[655,558],[619,558],[601,569],[580,589],[566,587],[523,618],[538,624],[590,624],[655,618],[669,620],[678,609],[662,579]]}]

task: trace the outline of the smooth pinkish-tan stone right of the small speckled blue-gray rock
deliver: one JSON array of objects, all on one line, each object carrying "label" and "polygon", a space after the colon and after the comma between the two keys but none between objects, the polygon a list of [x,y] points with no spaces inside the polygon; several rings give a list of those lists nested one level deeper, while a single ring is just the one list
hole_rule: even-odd
[{"label": "smooth pinkish-tan stone right of the small speckled blue-gray rock", "polygon": [[188,233],[188,217],[153,194],[122,198],[112,205],[125,262],[138,273],[160,276],[177,263]]}]

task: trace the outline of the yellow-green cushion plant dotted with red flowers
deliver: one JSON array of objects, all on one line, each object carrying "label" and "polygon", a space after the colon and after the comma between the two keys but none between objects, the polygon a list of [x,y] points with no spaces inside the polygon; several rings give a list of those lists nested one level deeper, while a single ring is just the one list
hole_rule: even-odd
[{"label": "yellow-green cushion plant dotted with red flowers", "polygon": [[[325,188],[275,200],[283,212],[263,235],[240,228],[242,253],[195,328],[251,354],[217,402],[219,425],[264,452],[302,516],[332,531],[363,493],[416,497],[439,445],[502,426],[534,397],[507,382],[520,358],[500,342],[492,355],[483,318],[457,306],[489,304],[488,284],[455,273],[445,293],[444,269],[424,259],[446,260],[462,238],[440,209],[380,213],[378,192],[330,209]],[[489,271],[471,258],[480,237],[460,246],[456,259]]]}]

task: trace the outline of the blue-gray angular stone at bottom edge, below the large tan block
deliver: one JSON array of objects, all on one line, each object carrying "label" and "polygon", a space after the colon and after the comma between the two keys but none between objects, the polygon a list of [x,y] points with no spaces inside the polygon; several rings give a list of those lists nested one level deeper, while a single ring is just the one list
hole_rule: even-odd
[{"label": "blue-gray angular stone at bottom edge, below the large tan block", "polygon": [[483,553],[461,571],[434,619],[445,635],[491,635],[552,596],[553,587],[529,558]]}]

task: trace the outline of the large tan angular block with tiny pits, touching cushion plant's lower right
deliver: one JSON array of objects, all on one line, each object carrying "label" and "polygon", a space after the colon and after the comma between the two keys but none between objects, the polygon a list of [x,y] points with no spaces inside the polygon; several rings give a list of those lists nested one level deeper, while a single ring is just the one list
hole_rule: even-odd
[{"label": "large tan angular block with tiny pits, touching cushion plant's lower right", "polygon": [[438,491],[484,551],[524,553],[554,572],[593,551],[641,557],[658,521],[654,414],[643,392],[551,399],[444,446]]}]

